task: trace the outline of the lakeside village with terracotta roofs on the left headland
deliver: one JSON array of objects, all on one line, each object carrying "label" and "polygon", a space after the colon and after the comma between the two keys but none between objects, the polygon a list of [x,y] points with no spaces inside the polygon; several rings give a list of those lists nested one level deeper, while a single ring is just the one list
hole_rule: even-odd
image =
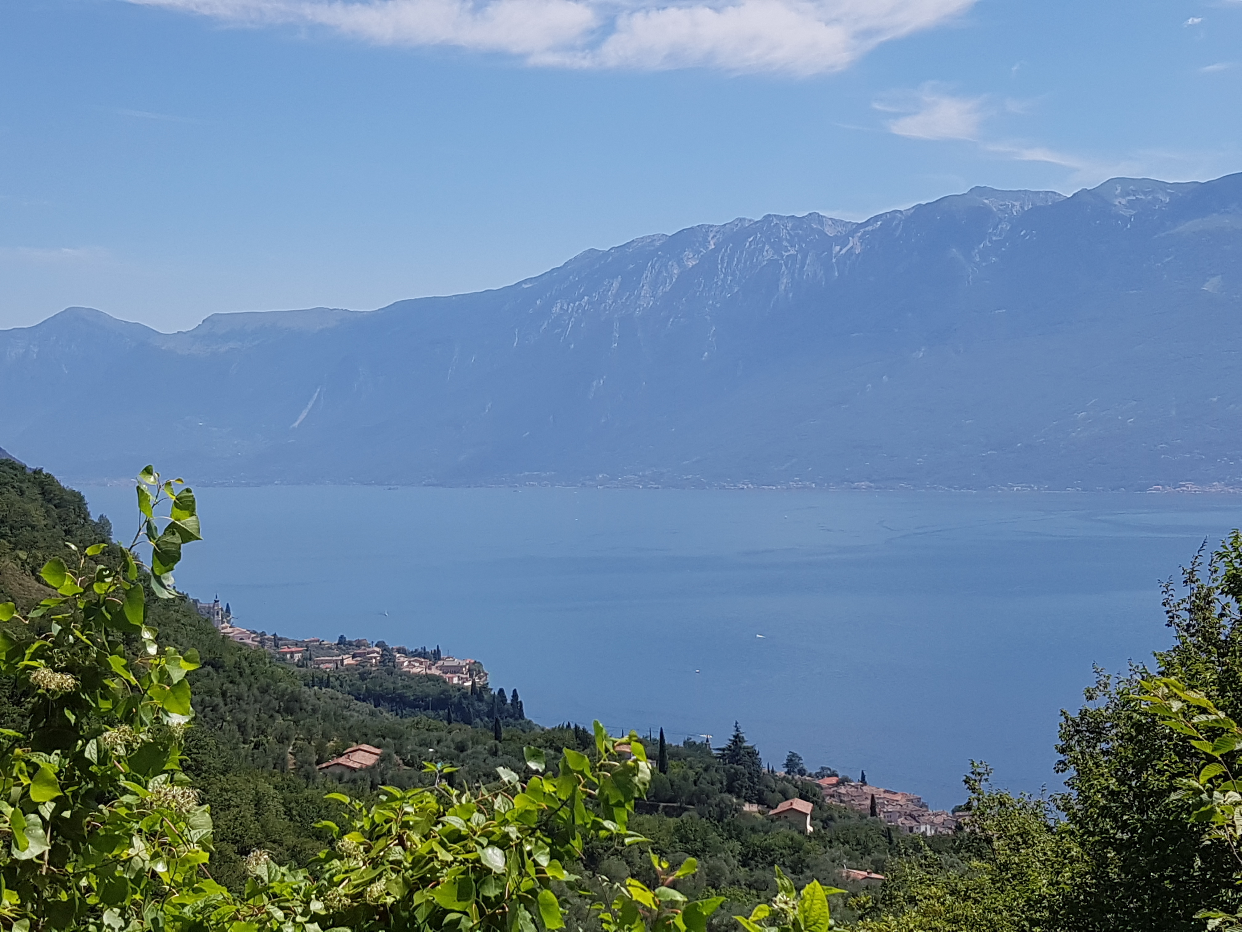
[{"label": "lakeside village with terracotta roofs on the left headland", "polygon": [[232,610],[227,604],[221,605],[219,598],[215,601],[191,599],[190,604],[200,615],[209,619],[225,637],[248,647],[263,649],[297,666],[312,670],[355,670],[388,666],[405,674],[438,676],[453,686],[467,688],[487,686],[487,671],[481,662],[469,657],[458,660],[445,656],[440,652],[440,647],[431,650],[426,647],[416,650],[404,646],[390,647],[384,641],[371,644],[365,637],[348,640],[344,635],[335,641],[325,641],[320,637],[282,637],[277,634],[251,631],[247,628],[235,625]]}]

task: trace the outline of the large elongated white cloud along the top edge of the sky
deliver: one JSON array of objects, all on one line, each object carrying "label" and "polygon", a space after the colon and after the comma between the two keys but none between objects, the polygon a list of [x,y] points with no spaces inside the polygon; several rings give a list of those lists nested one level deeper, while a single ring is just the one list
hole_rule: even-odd
[{"label": "large elongated white cloud along the top edge of the sky", "polygon": [[322,26],[571,68],[840,71],[975,0],[129,0],[241,25]]}]

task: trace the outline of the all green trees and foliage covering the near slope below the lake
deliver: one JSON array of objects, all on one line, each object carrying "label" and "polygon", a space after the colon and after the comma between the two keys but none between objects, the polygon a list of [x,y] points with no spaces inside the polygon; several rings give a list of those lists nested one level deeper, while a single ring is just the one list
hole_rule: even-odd
[{"label": "all green trees and foliage covering the near slope below the lake", "polygon": [[[238,644],[175,590],[193,492],[138,488],[122,547],[0,461],[5,930],[827,932],[830,903],[859,932],[1238,925],[1237,533],[1165,587],[1154,667],[1099,671],[1063,713],[1064,793],[976,764],[951,831],[918,834],[864,778],[765,767],[740,727],[720,748],[542,727],[486,682]],[[324,772],[359,747],[374,763]]]}]

